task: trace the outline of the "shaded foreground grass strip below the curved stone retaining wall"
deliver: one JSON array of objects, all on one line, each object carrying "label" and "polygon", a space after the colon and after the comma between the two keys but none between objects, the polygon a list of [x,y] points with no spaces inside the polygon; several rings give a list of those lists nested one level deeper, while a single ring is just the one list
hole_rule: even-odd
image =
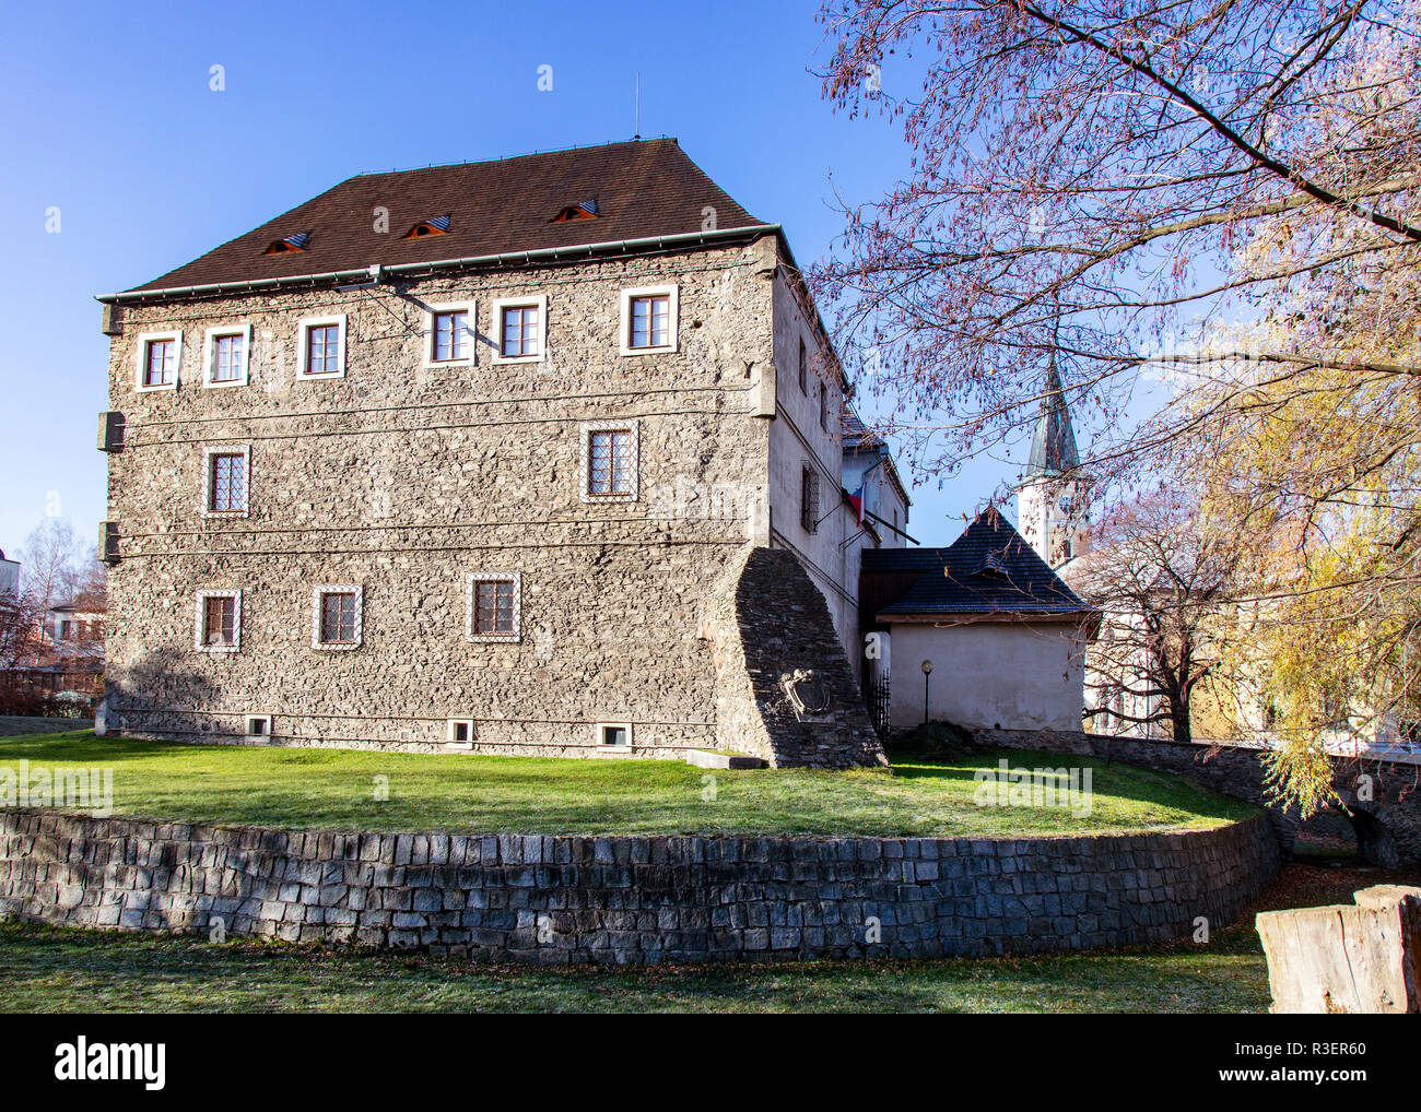
[{"label": "shaded foreground grass strip below the curved stone retaining wall", "polygon": [[1208,949],[631,970],[0,923],[0,1011],[1266,1011],[1252,927]]}]

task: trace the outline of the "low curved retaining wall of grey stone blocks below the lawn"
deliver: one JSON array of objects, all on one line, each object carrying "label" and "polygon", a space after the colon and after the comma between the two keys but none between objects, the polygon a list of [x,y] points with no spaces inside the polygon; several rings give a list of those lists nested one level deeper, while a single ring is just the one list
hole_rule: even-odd
[{"label": "low curved retaining wall of grey stone blocks below the lawn", "polygon": [[546,964],[1178,942],[1198,916],[1228,923],[1277,866],[1262,818],[969,841],[287,834],[0,812],[0,917],[209,937],[220,917],[234,937]]}]

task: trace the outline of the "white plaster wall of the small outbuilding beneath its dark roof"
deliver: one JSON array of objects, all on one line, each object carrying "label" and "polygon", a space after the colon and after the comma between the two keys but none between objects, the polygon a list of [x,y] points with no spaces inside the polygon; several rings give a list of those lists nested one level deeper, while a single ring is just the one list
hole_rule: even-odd
[{"label": "white plaster wall of the small outbuilding beneath its dark roof", "polygon": [[894,729],[922,723],[924,660],[932,660],[934,721],[1003,730],[1079,730],[1084,638],[1070,623],[979,622],[892,626]]}]

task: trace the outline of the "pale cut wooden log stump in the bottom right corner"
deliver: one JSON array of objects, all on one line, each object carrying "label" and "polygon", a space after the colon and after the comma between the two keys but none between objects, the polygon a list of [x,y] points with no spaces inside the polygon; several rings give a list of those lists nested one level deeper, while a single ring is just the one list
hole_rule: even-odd
[{"label": "pale cut wooden log stump in the bottom right corner", "polygon": [[1421,1013],[1421,888],[1376,885],[1354,906],[1263,912],[1275,1013]]}]

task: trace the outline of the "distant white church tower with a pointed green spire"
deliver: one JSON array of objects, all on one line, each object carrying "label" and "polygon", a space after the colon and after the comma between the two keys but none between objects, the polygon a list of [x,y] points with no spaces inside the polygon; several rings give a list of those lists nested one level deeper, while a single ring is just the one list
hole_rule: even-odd
[{"label": "distant white church tower with a pointed green spire", "polygon": [[1088,480],[1080,474],[1076,430],[1053,348],[1046,366],[1046,395],[1032,436],[1032,457],[1016,487],[1017,531],[1052,568],[1060,568],[1088,547],[1084,537],[1088,487]]}]

